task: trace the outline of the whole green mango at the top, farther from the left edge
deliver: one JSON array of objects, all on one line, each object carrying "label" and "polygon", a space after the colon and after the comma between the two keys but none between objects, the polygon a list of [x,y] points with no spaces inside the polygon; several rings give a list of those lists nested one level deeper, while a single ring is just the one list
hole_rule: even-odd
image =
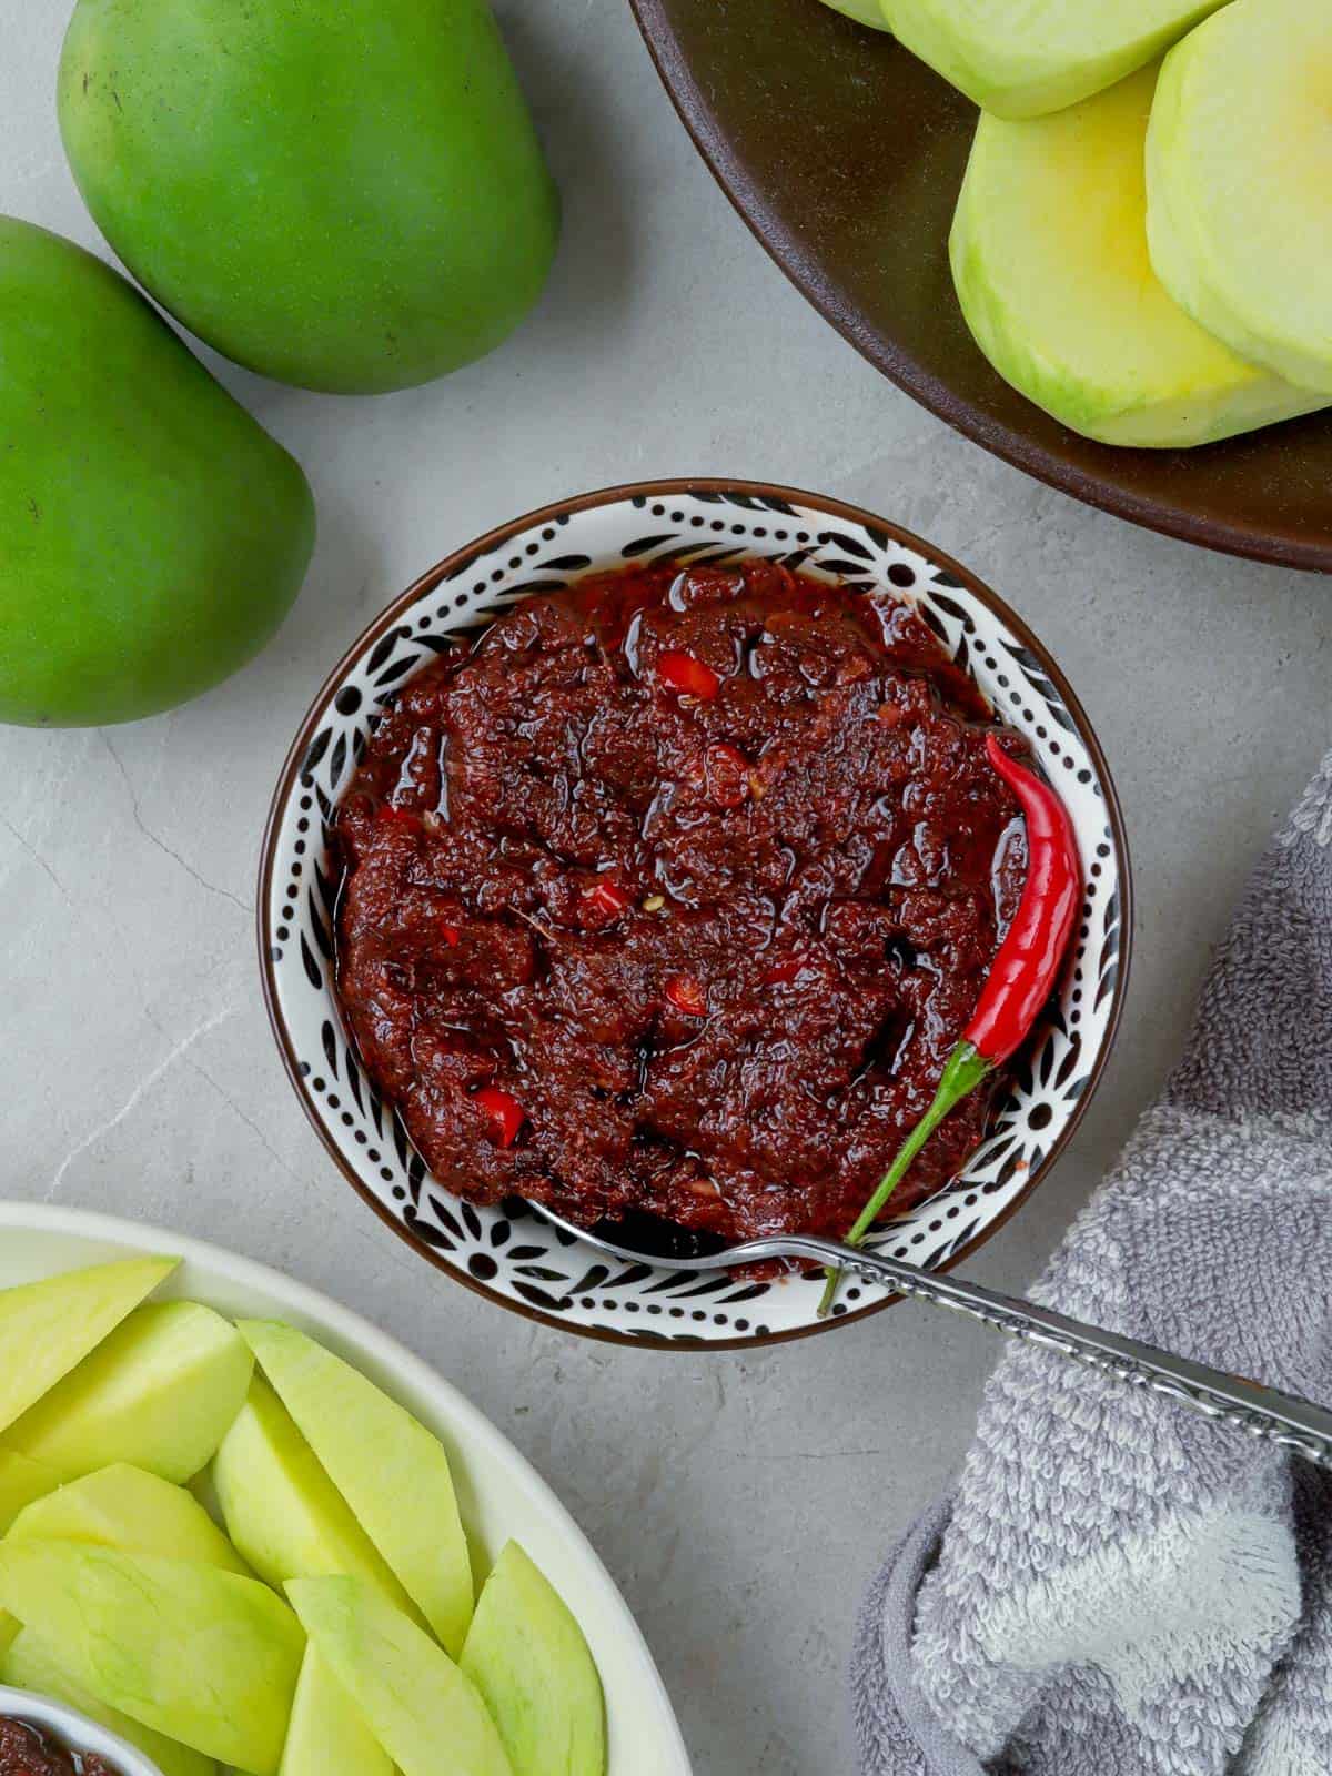
[{"label": "whole green mango at the top, farther from the left edge", "polygon": [[430,382],[545,282],[559,199],[485,0],[78,0],[59,103],[135,277],[281,382]]}]

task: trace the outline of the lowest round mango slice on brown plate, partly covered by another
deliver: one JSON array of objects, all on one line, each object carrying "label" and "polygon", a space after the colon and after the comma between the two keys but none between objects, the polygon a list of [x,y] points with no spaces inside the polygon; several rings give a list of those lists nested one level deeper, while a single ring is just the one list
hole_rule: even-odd
[{"label": "lowest round mango slice on brown plate, partly covered by another", "polygon": [[[1206,28],[1206,27],[1204,27]],[[1083,437],[1185,449],[1327,405],[1179,307],[1147,258],[1156,67],[1082,105],[982,115],[952,226],[957,300],[995,369]]]}]

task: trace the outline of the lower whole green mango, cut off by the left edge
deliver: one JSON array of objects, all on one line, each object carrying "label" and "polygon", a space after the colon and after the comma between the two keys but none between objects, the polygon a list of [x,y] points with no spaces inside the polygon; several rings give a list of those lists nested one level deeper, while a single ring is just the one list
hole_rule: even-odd
[{"label": "lower whole green mango, cut off by the left edge", "polygon": [[256,654],[314,547],[297,462],[108,265],[0,217],[0,721],[131,721]]}]

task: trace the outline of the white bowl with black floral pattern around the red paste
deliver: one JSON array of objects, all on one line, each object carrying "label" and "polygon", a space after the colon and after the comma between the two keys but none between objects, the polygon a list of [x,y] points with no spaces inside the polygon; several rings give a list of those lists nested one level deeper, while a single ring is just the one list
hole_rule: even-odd
[{"label": "white bowl with black floral pattern around the red paste", "polygon": [[[259,876],[265,995],[291,1082],[329,1153],[417,1252],[504,1307],[591,1337],[718,1348],[797,1337],[821,1284],[737,1282],[604,1259],[524,1202],[476,1208],[424,1169],[366,1078],[332,991],[337,879],[329,821],[384,705],[456,629],[591,568],[765,556],[911,602],[1025,733],[1076,826],[1087,876],[1062,987],[1019,1057],[989,1133],[947,1190],[884,1227],[877,1245],[940,1268],[987,1238],[1050,1169],[1105,1066],[1131,936],[1124,831],[1096,737],[1053,661],[986,586],[920,538],[852,506],[753,481],[659,481],[547,506],[456,551],[405,591],[334,670],[282,769]],[[854,1282],[842,1321],[893,1300]]]}]

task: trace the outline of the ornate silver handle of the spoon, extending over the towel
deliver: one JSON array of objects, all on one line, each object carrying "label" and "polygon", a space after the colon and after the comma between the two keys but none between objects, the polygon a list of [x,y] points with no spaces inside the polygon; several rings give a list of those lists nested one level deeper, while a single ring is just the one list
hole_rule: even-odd
[{"label": "ornate silver handle of the spoon, extending over the towel", "polygon": [[1250,1437],[1295,1449],[1320,1467],[1332,1467],[1332,1412],[1316,1407],[1296,1394],[1282,1394],[1241,1375],[1225,1375],[1204,1362],[1174,1357],[1170,1352],[1140,1344],[1117,1332],[1069,1320],[1050,1307],[1000,1295],[979,1282],[936,1275],[906,1265],[895,1257],[844,1247],[833,1240],[805,1236],[781,1238],[781,1249],[790,1256],[812,1257],[822,1265],[842,1265],[876,1282],[888,1282],[899,1295],[909,1295],[936,1307],[952,1307],[970,1314],[996,1332],[1030,1344],[1044,1344],[1073,1362],[1087,1364],[1112,1375],[1131,1387],[1149,1387],[1156,1394],[1177,1399],[1185,1407],[1233,1424]]}]

